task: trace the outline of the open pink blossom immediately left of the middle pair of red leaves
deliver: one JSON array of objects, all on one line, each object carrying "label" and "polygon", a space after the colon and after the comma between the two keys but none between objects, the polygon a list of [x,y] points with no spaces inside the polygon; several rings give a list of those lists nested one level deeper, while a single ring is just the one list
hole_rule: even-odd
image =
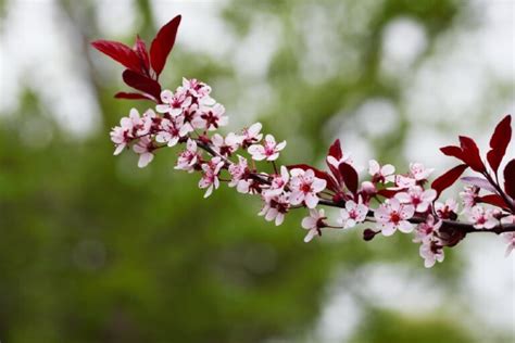
[{"label": "open pink blossom immediately left of the middle pair of red leaves", "polygon": [[318,204],[316,194],[326,188],[327,181],[315,177],[312,169],[294,168],[290,170],[290,175],[292,176],[290,180],[290,203],[300,205],[304,202],[309,208],[314,208]]}]

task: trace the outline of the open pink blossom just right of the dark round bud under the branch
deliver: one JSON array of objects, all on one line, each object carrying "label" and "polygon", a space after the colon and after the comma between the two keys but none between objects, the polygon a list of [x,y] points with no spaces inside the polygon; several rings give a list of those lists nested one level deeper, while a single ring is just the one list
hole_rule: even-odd
[{"label": "open pink blossom just right of the dark round bud under the branch", "polygon": [[407,221],[415,214],[413,205],[404,205],[398,199],[388,199],[375,211],[376,227],[384,236],[391,236],[399,229],[401,232],[413,231],[413,224]]}]

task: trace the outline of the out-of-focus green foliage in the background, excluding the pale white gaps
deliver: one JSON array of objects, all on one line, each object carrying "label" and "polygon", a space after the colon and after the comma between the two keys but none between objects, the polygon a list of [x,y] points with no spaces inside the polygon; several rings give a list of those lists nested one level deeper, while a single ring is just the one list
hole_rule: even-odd
[{"label": "out-of-focus green foliage in the background, excluding the pale white gaps", "polygon": [[[93,24],[93,2],[61,5],[70,22],[89,25],[74,27],[85,41],[103,37]],[[317,163],[330,136],[338,135],[326,125],[342,110],[376,96],[398,103],[402,86],[378,75],[381,33],[392,18],[416,20],[430,49],[460,11],[459,1],[451,0],[318,4],[338,22],[337,37],[349,41],[360,58],[357,71],[349,71],[342,59],[339,72],[313,84],[300,76],[305,42],[293,23],[307,5],[314,2],[234,1],[224,12],[240,39],[258,15],[274,16],[282,25],[266,74],[275,97],[259,116],[278,137],[302,138],[297,151],[289,144],[286,162],[302,156],[306,161],[296,162]],[[363,13],[364,7],[374,11]],[[151,37],[156,27],[152,7],[137,1],[137,9],[141,26],[135,31]],[[349,14],[340,20],[341,13]],[[361,20],[366,28],[353,34],[353,23]],[[216,84],[231,85],[237,76],[228,64],[179,49],[167,71],[168,85],[183,75],[196,76],[212,84],[218,98]],[[422,264],[409,239],[365,243],[355,231],[306,245],[301,213],[275,228],[256,217],[259,202],[233,190],[202,200],[197,176],[173,170],[175,151],[160,153],[145,170],[128,153],[113,157],[109,129],[134,103],[113,100],[118,80],[105,82],[87,59],[102,110],[101,127],[91,137],[80,140],[60,129],[30,89],[15,113],[1,117],[2,342],[302,342],[311,336],[328,284],[339,274],[375,261]],[[357,76],[348,77],[351,72]],[[221,100],[231,112],[241,90],[237,84],[229,90],[233,97],[222,94]],[[378,157],[404,163],[399,152],[406,125],[401,111],[399,129],[375,144]],[[452,253],[447,258],[431,275],[452,287],[459,262]],[[359,288],[353,280],[346,282]],[[470,342],[463,328],[444,318],[413,319],[370,307],[366,298],[360,302],[366,315],[352,342]]]}]

